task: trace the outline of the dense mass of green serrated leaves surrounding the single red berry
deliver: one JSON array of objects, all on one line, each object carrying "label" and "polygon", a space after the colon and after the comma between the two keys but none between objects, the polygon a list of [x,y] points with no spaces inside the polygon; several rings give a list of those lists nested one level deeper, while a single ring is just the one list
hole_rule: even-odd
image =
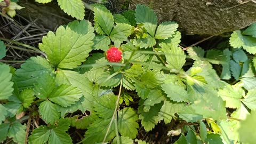
[{"label": "dense mass of green serrated leaves surrounding the single red berry", "polygon": [[255,23],[234,31],[231,47],[205,51],[182,49],[178,24],[158,25],[145,5],[112,14],[94,4],[93,13],[93,26],[49,31],[45,54],[21,68],[0,64],[0,142],[72,143],[75,127],[86,130],[79,143],[142,144],[139,127],[177,121],[177,144],[254,143]]}]

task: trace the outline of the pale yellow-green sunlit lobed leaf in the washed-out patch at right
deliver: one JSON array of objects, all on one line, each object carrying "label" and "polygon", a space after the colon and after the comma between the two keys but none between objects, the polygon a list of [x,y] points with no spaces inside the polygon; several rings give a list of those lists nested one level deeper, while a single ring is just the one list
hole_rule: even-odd
[{"label": "pale yellow-green sunlit lobed leaf in the washed-out patch at right", "polygon": [[226,107],[239,108],[241,106],[240,99],[243,97],[243,93],[244,91],[241,87],[226,84],[225,87],[221,87],[218,95],[226,101]]}]

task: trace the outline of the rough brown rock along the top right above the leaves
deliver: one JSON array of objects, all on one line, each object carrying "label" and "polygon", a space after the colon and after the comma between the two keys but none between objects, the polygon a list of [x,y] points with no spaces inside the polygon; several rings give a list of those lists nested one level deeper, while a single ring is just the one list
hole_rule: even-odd
[{"label": "rough brown rock along the top right above the leaves", "polygon": [[159,22],[178,22],[187,35],[218,35],[256,21],[256,2],[248,0],[131,0],[130,8],[136,4],[153,8]]}]

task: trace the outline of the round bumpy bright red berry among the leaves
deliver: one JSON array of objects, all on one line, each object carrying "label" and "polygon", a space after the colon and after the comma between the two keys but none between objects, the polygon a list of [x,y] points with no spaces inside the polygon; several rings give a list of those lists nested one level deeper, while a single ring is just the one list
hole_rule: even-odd
[{"label": "round bumpy bright red berry among the leaves", "polygon": [[118,50],[117,47],[111,47],[107,51],[106,57],[109,62],[119,62],[122,60],[122,51]]}]

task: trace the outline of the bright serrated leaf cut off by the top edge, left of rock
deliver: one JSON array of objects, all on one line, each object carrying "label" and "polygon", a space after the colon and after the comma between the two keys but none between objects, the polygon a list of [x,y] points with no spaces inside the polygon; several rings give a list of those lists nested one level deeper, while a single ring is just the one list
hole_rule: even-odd
[{"label": "bright serrated leaf cut off by the top edge, left of rock", "polygon": [[58,4],[64,12],[78,20],[84,19],[85,7],[81,0],[58,0]]}]

